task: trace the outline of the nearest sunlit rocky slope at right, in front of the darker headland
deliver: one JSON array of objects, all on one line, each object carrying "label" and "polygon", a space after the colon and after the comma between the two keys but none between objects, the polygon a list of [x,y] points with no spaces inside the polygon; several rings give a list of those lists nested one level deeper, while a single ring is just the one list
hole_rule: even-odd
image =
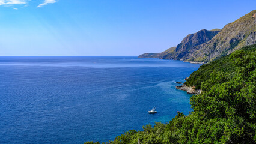
[{"label": "nearest sunlit rocky slope at right, in front of the darker headland", "polygon": [[186,61],[209,62],[228,55],[244,46],[256,43],[256,10],[225,25],[212,40],[193,47],[186,54]]}]

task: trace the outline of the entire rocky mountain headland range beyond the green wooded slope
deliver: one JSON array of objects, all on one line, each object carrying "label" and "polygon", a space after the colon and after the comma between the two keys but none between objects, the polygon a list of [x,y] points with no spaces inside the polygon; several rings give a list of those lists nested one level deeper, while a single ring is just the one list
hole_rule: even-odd
[{"label": "entire rocky mountain headland range beyond the green wooded slope", "polygon": [[[185,62],[209,62],[244,46],[256,43],[256,10],[224,26],[222,30],[203,29],[189,34],[176,48],[168,52],[150,53],[154,58],[177,59]],[[140,58],[150,58],[140,55]]]}]

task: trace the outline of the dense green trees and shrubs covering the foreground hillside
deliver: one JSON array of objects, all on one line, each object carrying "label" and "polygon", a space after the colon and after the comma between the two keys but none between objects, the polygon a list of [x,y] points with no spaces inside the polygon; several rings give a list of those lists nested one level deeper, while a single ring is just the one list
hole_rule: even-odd
[{"label": "dense green trees and shrubs covering the foreground hillside", "polygon": [[256,44],[244,47],[192,73],[187,85],[203,93],[191,97],[188,116],[178,113],[168,124],[145,125],[107,143],[256,143],[255,50]]}]

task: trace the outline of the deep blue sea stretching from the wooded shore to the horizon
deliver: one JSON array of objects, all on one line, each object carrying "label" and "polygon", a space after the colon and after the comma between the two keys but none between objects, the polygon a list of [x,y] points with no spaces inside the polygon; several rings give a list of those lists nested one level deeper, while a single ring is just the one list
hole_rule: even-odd
[{"label": "deep blue sea stretching from the wooded shore to the horizon", "polygon": [[[0,57],[0,143],[108,142],[188,115],[175,82],[200,65],[136,57]],[[156,106],[157,113],[148,110]]]}]

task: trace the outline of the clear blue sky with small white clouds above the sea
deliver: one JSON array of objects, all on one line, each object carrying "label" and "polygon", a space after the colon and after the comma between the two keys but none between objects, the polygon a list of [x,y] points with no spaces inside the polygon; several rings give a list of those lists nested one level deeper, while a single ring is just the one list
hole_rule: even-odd
[{"label": "clear blue sky with small white clouds above the sea", "polygon": [[1,56],[136,56],[223,28],[255,0],[0,0]]}]

